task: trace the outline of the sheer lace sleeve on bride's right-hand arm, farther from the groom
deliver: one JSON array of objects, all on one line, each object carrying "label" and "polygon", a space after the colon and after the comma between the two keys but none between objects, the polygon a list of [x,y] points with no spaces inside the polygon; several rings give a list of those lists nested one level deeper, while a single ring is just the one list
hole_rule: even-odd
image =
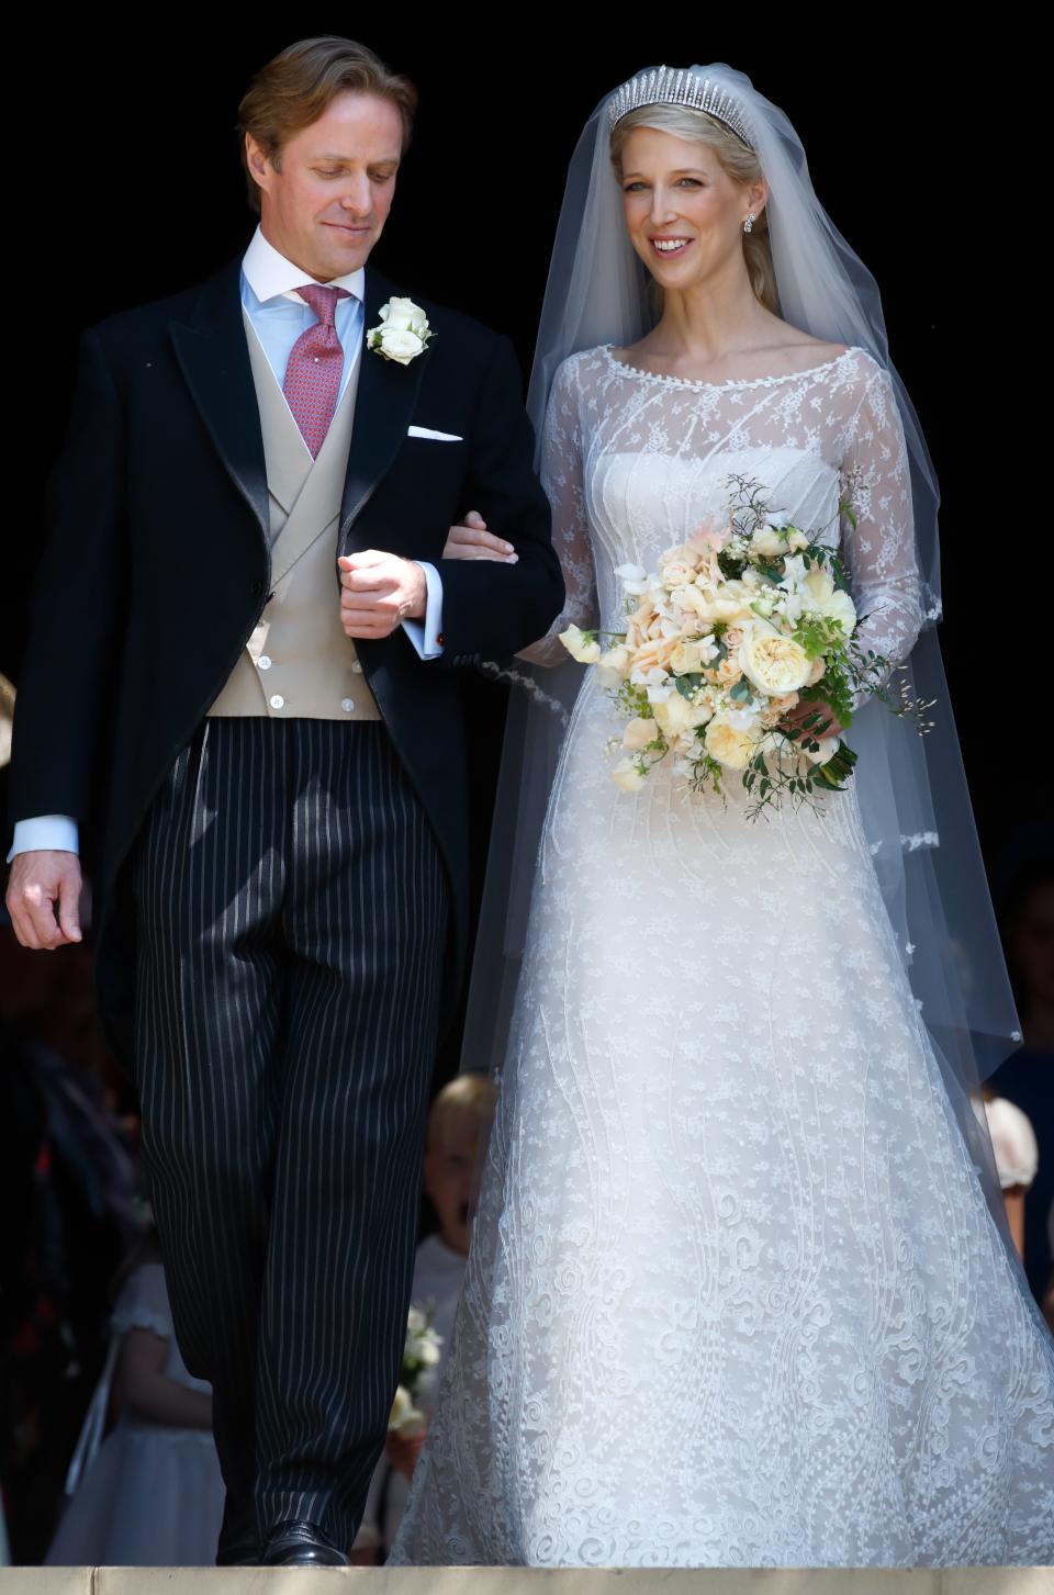
[{"label": "sheer lace sleeve on bride's right-hand arm, farther from the groom", "polygon": [[888,375],[869,356],[861,367],[842,456],[856,525],[844,515],[842,547],[859,643],[899,665],[922,628],[907,450]]}]

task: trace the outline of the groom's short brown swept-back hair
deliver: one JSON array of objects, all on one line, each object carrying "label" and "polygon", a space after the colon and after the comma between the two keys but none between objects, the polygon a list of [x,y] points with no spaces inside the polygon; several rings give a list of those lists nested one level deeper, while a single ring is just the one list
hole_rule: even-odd
[{"label": "groom's short brown swept-back hair", "polygon": [[317,121],[338,94],[376,94],[391,100],[402,116],[402,147],[407,148],[418,108],[418,91],[410,78],[389,72],[380,56],[352,38],[330,33],[301,38],[260,67],[238,107],[241,158],[254,211],[260,211],[260,188],[249,171],[246,134],[252,134],[271,166],[281,171],[285,140]]}]

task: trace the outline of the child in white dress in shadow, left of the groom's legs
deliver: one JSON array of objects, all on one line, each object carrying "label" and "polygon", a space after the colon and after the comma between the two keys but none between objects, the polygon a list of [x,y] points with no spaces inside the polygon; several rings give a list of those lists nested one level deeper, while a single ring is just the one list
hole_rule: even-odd
[{"label": "child in white dress in shadow, left of the groom's legs", "polygon": [[48,1565],[209,1566],[223,1518],[212,1392],[179,1354],[153,1225],[123,1276],[89,1423],[107,1407],[110,1372],[120,1416],[94,1456],[88,1447]]}]

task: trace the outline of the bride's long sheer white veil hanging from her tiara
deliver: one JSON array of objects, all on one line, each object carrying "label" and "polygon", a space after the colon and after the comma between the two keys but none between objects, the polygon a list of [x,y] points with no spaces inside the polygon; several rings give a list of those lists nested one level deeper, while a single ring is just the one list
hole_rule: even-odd
[{"label": "bride's long sheer white veil hanging from her tiara", "polygon": [[[654,69],[646,69],[654,70]],[[914,538],[923,630],[895,675],[909,700],[933,703],[925,735],[879,702],[856,715],[847,740],[859,754],[858,798],[883,900],[957,1118],[992,1182],[990,1147],[969,1093],[1021,1040],[992,912],[955,723],[941,664],[938,482],[918,418],[888,351],[877,284],[813,190],[786,115],[724,64],[690,73],[726,88],[743,108],[769,183],[769,236],[780,311],[792,325],[855,345],[890,373],[910,458]],[[641,73],[639,77],[643,77]],[[654,324],[647,273],[622,223],[609,160],[612,96],[585,124],[571,160],[542,306],[528,410],[536,437],[553,373],[569,354],[635,343]],[[515,660],[494,829],[469,992],[462,1067],[501,1070],[525,946],[531,887],[568,710],[582,668]],[[603,780],[603,772],[598,772]],[[627,796],[627,802],[633,798]],[[823,801],[823,799],[820,799]],[[764,818],[756,823],[764,825]],[[523,994],[521,1000],[529,1000]]]}]

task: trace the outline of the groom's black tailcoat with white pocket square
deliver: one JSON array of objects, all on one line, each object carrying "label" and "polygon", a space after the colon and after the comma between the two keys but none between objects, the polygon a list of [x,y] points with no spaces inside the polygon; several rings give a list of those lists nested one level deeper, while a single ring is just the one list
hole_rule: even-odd
[{"label": "groom's black tailcoat with white pocket square", "polygon": [[[372,327],[403,290],[373,266],[365,282]],[[399,365],[362,351],[338,552],[431,560],[443,579],[440,659],[423,662],[402,628],[357,649],[450,872],[453,995],[469,876],[453,667],[509,657],[541,636],[563,582],[510,343],[458,311],[418,303],[435,332],[424,354]],[[410,437],[411,424],[462,442]],[[440,558],[448,526],[469,509],[515,545],[518,565]],[[11,818],[65,813],[81,823],[96,880],[100,1008],[123,1053],[134,954],[124,864],[271,585],[238,263],[85,333],[48,518],[19,679]]]}]

